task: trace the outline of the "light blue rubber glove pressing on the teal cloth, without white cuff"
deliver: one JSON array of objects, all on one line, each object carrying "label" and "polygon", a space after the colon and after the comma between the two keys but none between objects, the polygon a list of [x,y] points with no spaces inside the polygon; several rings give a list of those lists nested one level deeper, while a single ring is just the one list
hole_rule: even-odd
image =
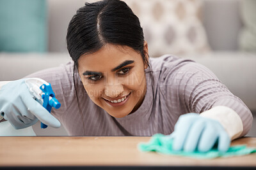
[{"label": "light blue rubber glove pressing on the teal cloth, without white cuff", "polygon": [[170,137],[173,150],[177,151],[207,152],[217,143],[220,152],[227,152],[230,146],[230,138],[220,122],[196,113],[181,115]]}]

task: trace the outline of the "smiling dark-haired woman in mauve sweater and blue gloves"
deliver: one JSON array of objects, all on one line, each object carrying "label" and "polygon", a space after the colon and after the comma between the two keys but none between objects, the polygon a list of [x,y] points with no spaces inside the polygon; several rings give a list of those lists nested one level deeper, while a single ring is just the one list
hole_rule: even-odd
[{"label": "smiling dark-haired woman in mauve sweater and blue gloves", "polygon": [[[67,48],[72,62],[28,77],[51,83],[61,103],[52,115],[70,135],[172,133],[174,150],[205,152],[218,144],[225,152],[250,130],[250,110],[209,69],[172,55],[148,57],[138,17],[122,1],[77,10]],[[17,129],[38,119],[60,126],[32,99],[24,79],[0,90],[0,113]]]}]

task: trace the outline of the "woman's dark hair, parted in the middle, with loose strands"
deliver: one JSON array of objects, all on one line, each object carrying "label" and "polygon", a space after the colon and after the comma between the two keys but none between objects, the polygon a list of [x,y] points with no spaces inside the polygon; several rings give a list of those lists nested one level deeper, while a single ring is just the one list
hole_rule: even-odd
[{"label": "woman's dark hair, parted in the middle, with loose strands", "polygon": [[[151,68],[144,52],[144,36],[140,20],[126,3],[119,0],[85,3],[85,6],[77,10],[67,30],[67,48],[74,61],[74,73],[77,71],[81,55],[97,52],[107,43],[131,47],[141,54],[145,66]],[[150,74],[154,82],[151,71]],[[77,104],[81,112],[78,97]],[[81,115],[83,116],[82,113]]]}]

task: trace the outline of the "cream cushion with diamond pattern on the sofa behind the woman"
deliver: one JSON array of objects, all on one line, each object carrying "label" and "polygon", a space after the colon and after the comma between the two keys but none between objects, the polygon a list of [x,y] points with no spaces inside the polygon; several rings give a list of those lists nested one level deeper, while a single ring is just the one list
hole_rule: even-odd
[{"label": "cream cushion with diamond pattern on the sofa behind the woman", "polygon": [[209,51],[202,1],[127,0],[143,27],[151,57]]}]

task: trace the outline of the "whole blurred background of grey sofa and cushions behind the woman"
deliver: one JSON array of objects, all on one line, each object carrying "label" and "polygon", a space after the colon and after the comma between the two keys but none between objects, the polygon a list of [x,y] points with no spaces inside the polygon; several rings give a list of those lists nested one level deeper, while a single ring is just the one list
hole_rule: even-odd
[{"label": "whole blurred background of grey sofa and cushions behind the woman", "polygon": [[[84,0],[0,0],[0,81],[70,60],[68,22]],[[126,0],[140,18],[150,57],[178,55],[209,67],[256,119],[255,0]],[[247,136],[256,136],[256,120]],[[38,135],[65,129],[33,128]]]}]

